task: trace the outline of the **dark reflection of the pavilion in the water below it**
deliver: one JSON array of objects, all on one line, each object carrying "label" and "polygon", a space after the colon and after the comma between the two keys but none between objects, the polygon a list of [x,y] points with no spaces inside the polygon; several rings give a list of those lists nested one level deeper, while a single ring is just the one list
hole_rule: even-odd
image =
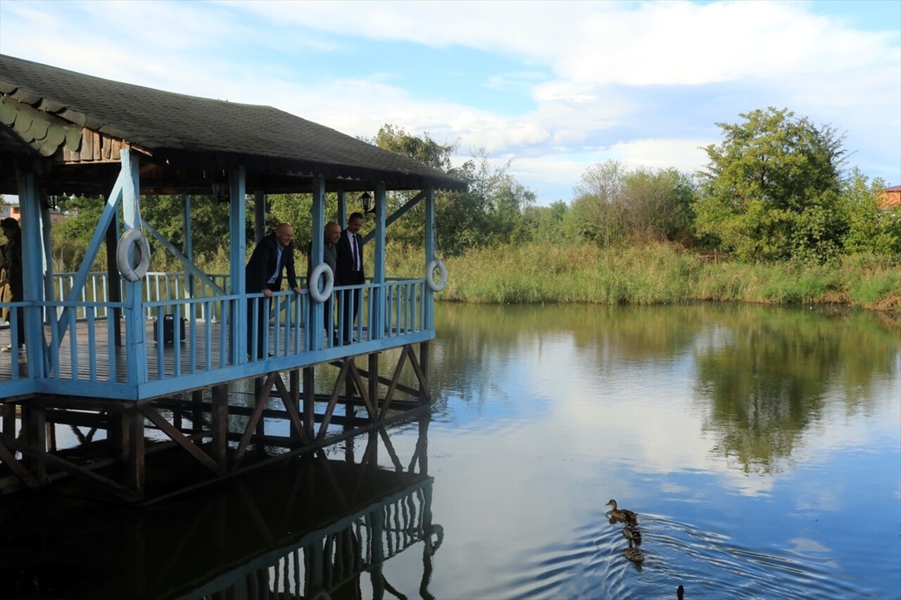
[{"label": "dark reflection of the pavilion in the water below it", "polygon": [[[412,457],[399,456],[383,429],[359,457],[350,440],[343,459],[321,451],[283,461],[138,513],[48,510],[36,505],[50,502],[43,497],[19,500],[12,519],[0,505],[8,533],[0,546],[11,557],[0,575],[19,581],[20,593],[73,598],[409,597],[396,586],[412,580],[431,598],[443,533],[432,523],[427,427],[425,416]],[[388,581],[387,560],[415,547],[422,573]]]}]

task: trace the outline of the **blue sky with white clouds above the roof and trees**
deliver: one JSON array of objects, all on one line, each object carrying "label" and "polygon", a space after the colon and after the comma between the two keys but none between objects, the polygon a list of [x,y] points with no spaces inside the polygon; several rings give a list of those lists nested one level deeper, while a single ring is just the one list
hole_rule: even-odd
[{"label": "blue sky with white clouds above the roof and trees", "polygon": [[350,135],[384,123],[484,149],[538,196],[585,169],[706,163],[715,123],[787,107],[901,184],[901,0],[0,2],[0,52],[272,105]]}]

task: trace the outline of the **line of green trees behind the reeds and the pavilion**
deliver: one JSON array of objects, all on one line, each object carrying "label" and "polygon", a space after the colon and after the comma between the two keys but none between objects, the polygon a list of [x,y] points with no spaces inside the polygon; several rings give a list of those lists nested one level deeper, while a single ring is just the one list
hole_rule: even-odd
[{"label": "line of green trees behind the reeds and the pavilion", "polygon": [[[436,245],[442,256],[532,242],[602,247],[664,242],[744,262],[823,264],[857,253],[901,256],[901,205],[880,206],[885,181],[847,168],[843,134],[787,109],[770,107],[739,117],[738,123],[716,123],[723,139],[705,148],[708,163],[698,173],[627,168],[607,160],[586,168],[569,201],[550,205],[538,205],[532,190],[510,173],[511,163],[492,165],[484,150],[454,166],[455,144],[390,124],[367,141],[467,182],[466,192],[435,195]],[[388,192],[387,214],[413,195]],[[268,227],[292,223],[296,239],[310,239],[312,195],[269,195],[267,204]],[[144,218],[177,247],[184,241],[181,206],[180,196],[141,200]],[[54,258],[57,270],[70,270],[84,256],[103,203],[72,197],[60,207],[69,218],[54,226]],[[393,223],[388,240],[422,247],[423,211],[419,203]],[[222,244],[229,235],[227,216],[227,205],[212,196],[192,197],[192,244],[201,266],[227,263]],[[330,197],[326,219],[336,217],[337,204]],[[252,241],[251,203],[248,223]]]}]

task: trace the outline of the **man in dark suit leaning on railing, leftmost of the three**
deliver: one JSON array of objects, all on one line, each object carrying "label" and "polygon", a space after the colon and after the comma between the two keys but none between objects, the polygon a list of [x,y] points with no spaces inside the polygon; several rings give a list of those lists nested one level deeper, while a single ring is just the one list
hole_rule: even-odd
[{"label": "man in dark suit leaning on railing, leftmost of the three", "polygon": [[[257,247],[250,254],[247,268],[244,271],[245,289],[248,294],[262,292],[262,298],[250,298],[247,301],[247,352],[253,359],[265,357],[266,349],[263,347],[263,332],[268,328],[267,308],[271,306],[272,292],[281,289],[282,271],[287,270],[287,284],[300,294],[300,286],[297,285],[297,277],[294,270],[294,227],[288,223],[279,223],[276,231],[269,233],[259,241]],[[253,318],[254,308],[257,310],[257,346],[253,347],[253,328],[250,319]]]}]

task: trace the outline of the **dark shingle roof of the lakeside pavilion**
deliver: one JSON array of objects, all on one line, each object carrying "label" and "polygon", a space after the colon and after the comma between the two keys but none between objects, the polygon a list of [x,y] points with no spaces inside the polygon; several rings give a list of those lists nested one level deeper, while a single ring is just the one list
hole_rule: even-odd
[{"label": "dark shingle roof of the lakeside pavilion", "polygon": [[[371,189],[375,182],[384,182],[387,189],[466,188],[437,169],[271,106],[173,94],[0,55],[0,99],[4,98],[11,99],[4,107],[6,118],[0,120],[0,154],[7,157],[37,153],[40,144],[29,140],[22,127],[7,123],[9,105],[29,105],[59,117],[72,130],[69,133],[84,127],[125,141],[145,150],[158,165],[194,169],[242,165],[249,184],[256,181],[278,191],[306,191],[310,177],[325,177],[332,189]],[[50,150],[43,150],[45,156]],[[170,180],[165,185],[176,185],[176,169],[166,170]],[[74,170],[69,171],[71,179]]]}]

